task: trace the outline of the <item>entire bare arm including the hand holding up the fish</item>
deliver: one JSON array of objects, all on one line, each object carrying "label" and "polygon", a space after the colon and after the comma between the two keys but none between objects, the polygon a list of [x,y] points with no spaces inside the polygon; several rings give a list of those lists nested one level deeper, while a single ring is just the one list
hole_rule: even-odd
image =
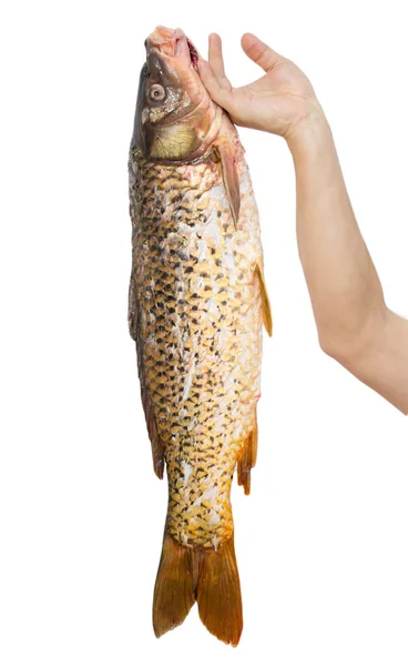
[{"label": "entire bare arm including the hand holding up the fish", "polygon": [[297,194],[297,240],[323,350],[405,414],[408,413],[408,322],[385,304],[358,229],[332,132],[303,72],[254,36],[245,52],[265,74],[234,89],[221,40],[210,40],[200,71],[212,97],[237,124],[283,135]]}]

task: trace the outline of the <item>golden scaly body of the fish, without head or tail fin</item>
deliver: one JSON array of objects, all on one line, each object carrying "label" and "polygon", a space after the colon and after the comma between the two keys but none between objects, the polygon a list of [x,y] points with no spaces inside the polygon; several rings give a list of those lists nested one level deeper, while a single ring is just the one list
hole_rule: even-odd
[{"label": "golden scaly body of the fish, without head or tail fin", "polygon": [[[236,463],[256,427],[262,346],[258,220],[241,151],[235,229],[215,152],[196,164],[131,153],[139,350],[169,480],[166,533],[218,548]],[[133,309],[133,310],[132,310]]]}]

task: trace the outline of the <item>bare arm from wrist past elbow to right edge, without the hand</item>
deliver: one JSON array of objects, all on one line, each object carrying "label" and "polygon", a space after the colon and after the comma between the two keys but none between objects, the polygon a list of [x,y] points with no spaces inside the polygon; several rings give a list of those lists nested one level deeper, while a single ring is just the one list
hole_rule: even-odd
[{"label": "bare arm from wrist past elbow to right edge, without the hand", "polygon": [[320,345],[408,413],[408,322],[390,312],[324,115],[293,134],[297,240]]}]

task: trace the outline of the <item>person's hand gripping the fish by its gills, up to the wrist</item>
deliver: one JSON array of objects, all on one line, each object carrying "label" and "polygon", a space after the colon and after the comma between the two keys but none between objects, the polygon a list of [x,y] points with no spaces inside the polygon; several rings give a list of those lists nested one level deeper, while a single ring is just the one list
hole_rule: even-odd
[{"label": "person's hand gripping the fish by its gills, up to the wrist", "polygon": [[198,60],[205,88],[235,124],[289,140],[302,127],[323,115],[312,83],[294,62],[251,33],[243,36],[242,48],[265,71],[263,77],[242,88],[233,88],[225,75],[218,34],[208,38],[208,62],[203,58]]}]

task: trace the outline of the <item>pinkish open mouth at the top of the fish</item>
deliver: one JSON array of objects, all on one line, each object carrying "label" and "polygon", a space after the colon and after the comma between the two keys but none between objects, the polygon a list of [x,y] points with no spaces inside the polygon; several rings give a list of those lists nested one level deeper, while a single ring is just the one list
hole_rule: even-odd
[{"label": "pinkish open mouth at the top of the fish", "polygon": [[144,43],[147,54],[155,51],[169,59],[177,58],[198,72],[198,52],[181,28],[172,30],[171,28],[157,26]]}]

